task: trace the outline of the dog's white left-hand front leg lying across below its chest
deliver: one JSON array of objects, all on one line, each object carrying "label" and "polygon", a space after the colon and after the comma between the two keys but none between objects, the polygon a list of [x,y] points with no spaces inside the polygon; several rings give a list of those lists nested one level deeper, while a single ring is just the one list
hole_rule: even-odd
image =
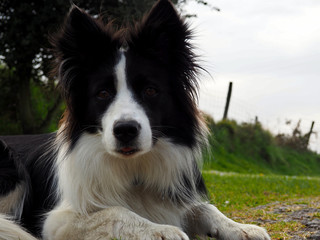
[{"label": "dog's white left-hand front leg lying across below its chest", "polygon": [[123,208],[110,207],[88,216],[53,210],[44,224],[45,240],[188,240],[179,228],[160,225]]}]

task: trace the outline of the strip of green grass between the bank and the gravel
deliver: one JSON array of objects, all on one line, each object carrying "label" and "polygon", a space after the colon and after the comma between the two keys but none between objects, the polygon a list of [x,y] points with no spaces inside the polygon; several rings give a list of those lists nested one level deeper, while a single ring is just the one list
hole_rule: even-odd
[{"label": "strip of green grass between the bank and the gravel", "polygon": [[320,178],[204,171],[211,202],[221,210],[242,210],[275,201],[320,196]]}]

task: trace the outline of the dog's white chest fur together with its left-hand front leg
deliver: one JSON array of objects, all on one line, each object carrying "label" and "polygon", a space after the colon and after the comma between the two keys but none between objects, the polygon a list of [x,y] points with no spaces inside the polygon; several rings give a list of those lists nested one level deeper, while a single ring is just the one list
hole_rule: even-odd
[{"label": "dog's white chest fur together with its left-hand front leg", "polygon": [[[197,151],[160,139],[150,152],[125,159],[107,153],[102,138],[83,134],[71,152],[60,147],[63,201],[49,213],[45,239],[188,239],[177,228],[188,208],[176,207],[166,191],[182,190]],[[175,227],[156,224],[164,222]]]}]

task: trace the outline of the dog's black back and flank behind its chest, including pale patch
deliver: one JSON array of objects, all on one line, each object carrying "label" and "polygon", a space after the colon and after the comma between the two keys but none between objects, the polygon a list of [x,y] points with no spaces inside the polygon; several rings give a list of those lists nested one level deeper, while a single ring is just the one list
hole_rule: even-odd
[{"label": "dog's black back and flank behind its chest, including pale patch", "polygon": [[39,214],[53,208],[55,133],[0,136],[0,213],[19,220],[31,232]]}]

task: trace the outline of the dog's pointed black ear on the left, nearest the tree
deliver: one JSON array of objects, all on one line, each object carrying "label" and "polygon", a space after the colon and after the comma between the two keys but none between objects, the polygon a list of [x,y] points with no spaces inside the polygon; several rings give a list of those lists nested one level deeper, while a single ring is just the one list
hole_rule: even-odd
[{"label": "dog's pointed black ear on the left, nearest the tree", "polygon": [[50,39],[55,57],[53,74],[66,92],[75,76],[98,61],[112,59],[119,45],[114,36],[111,24],[104,25],[101,19],[71,7],[61,30]]}]

